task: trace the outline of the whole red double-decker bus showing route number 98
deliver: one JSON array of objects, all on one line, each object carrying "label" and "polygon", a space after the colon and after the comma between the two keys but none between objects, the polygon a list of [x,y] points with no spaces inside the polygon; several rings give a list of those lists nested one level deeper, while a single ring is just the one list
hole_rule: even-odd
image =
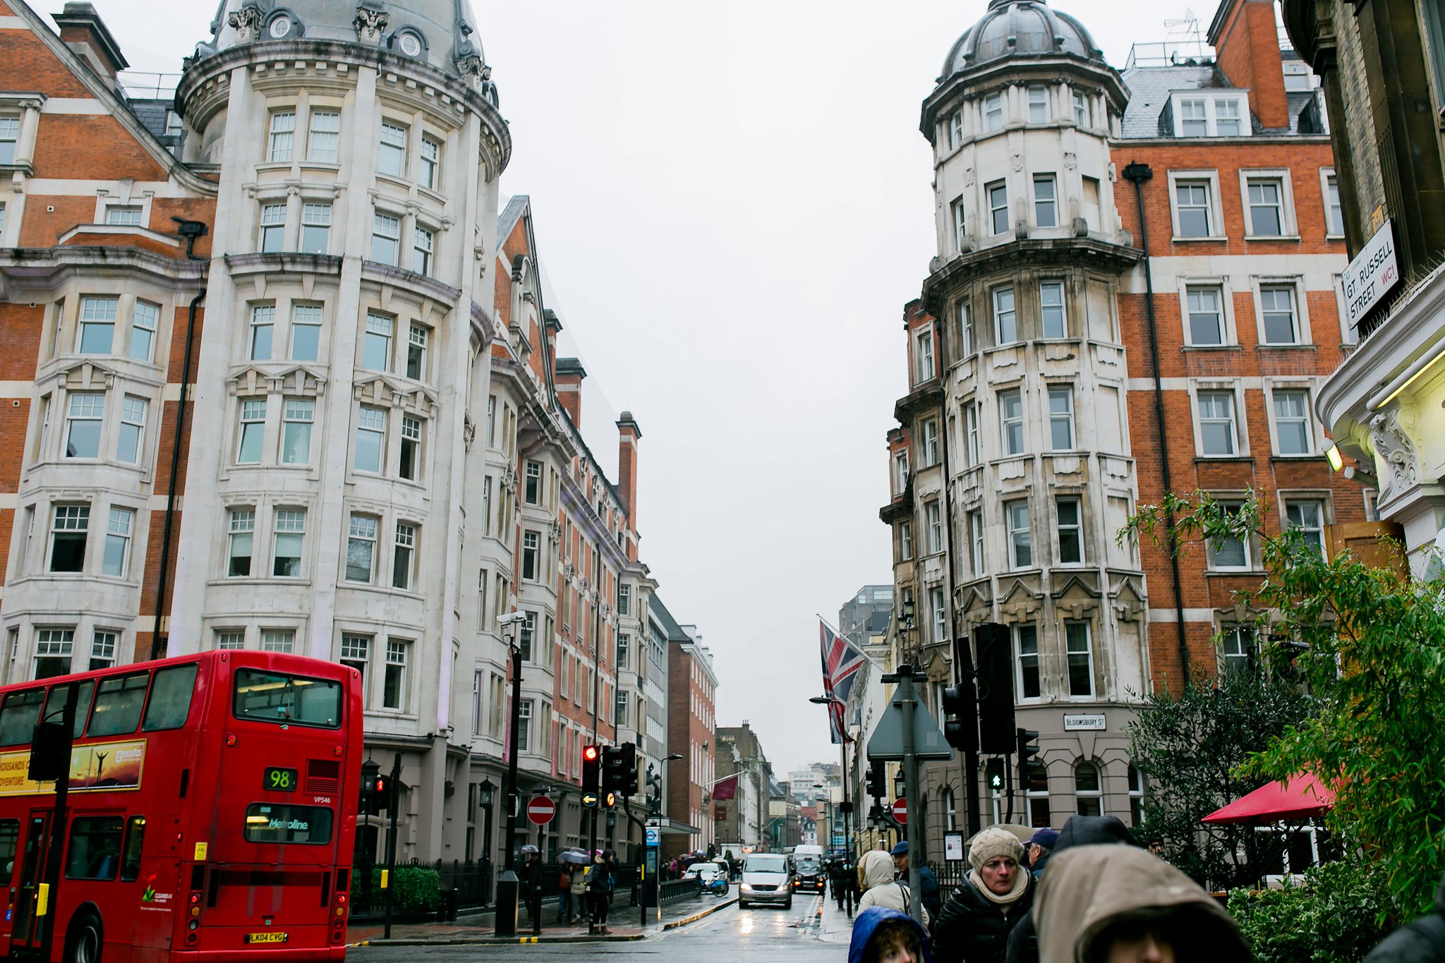
[{"label": "whole red double-decker bus showing route number 98", "polygon": [[[52,833],[30,739],[72,687]],[[0,689],[0,951],[342,960],[360,764],[360,674],[314,658],[215,651]]]}]

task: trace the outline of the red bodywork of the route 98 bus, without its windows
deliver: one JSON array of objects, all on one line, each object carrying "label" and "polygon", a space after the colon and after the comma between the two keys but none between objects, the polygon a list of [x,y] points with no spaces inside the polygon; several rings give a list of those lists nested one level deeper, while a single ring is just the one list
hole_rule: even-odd
[{"label": "red bodywork of the route 98 bus, without its windows", "polygon": [[[51,892],[55,930],[48,959],[61,960],[72,923],[94,914],[101,921],[105,963],[342,960],[361,765],[361,687],[355,670],[282,653],[201,653],[7,686],[0,689],[0,713],[12,693],[87,680],[95,680],[98,689],[105,679],[153,676],[192,663],[195,689],[184,726],[159,732],[137,726],[100,738],[87,733],[74,742],[59,885]],[[340,726],[237,718],[237,668],[340,683]],[[77,718],[88,710],[90,702],[78,706]],[[33,923],[27,924],[33,897],[22,876],[30,847],[43,846],[35,820],[53,810],[55,794],[52,784],[29,783],[17,755],[27,751],[29,745],[0,746],[0,847],[10,820],[19,822],[19,849],[9,868],[0,859],[0,875],[9,876],[0,953],[33,953],[39,946]],[[272,777],[277,783],[292,781],[288,771],[293,771],[295,785],[264,785],[269,768],[280,771]],[[328,842],[249,842],[247,809],[253,804],[262,811],[282,811],[283,820],[296,811],[285,807],[327,810],[332,823]],[[95,849],[85,830],[114,826],[117,817],[124,826],[123,847],[131,833],[139,837],[139,868],[129,852],[123,859],[104,847],[92,855],[91,868],[84,868],[87,845]],[[121,863],[120,872],[105,862],[111,858]],[[97,859],[100,871],[94,869]],[[71,878],[87,872],[101,878]]]}]

